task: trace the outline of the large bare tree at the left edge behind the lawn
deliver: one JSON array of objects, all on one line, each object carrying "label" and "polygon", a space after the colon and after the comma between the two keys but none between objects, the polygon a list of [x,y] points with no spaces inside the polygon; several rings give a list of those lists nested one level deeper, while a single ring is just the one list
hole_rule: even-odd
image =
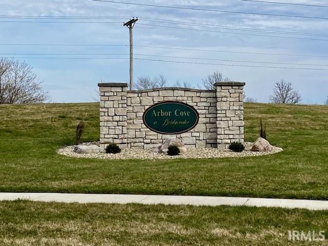
[{"label": "large bare tree at the left edge behind the lawn", "polygon": [[18,60],[0,58],[0,104],[35,104],[49,99],[32,67]]}]

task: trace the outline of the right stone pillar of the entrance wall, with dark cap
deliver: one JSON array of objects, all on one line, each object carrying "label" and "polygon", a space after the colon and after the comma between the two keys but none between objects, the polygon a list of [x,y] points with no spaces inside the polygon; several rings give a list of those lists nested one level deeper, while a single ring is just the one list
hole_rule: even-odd
[{"label": "right stone pillar of the entrance wall, with dark cap", "polygon": [[243,87],[245,83],[216,83],[217,148],[228,149],[232,142],[244,143]]}]

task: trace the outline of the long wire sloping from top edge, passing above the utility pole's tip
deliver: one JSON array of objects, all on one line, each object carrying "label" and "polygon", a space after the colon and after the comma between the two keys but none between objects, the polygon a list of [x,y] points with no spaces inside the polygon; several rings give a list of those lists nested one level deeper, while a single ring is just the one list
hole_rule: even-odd
[{"label": "long wire sloping from top edge, passing above the utility pole's tip", "polygon": [[316,16],[288,15],[288,14],[268,14],[268,13],[228,11],[228,10],[217,10],[217,9],[200,9],[200,8],[188,8],[188,7],[174,7],[174,6],[164,6],[164,5],[154,5],[154,4],[137,4],[137,3],[128,3],[128,2],[117,2],[117,1],[108,1],[108,0],[90,0],[90,1],[113,3],[113,4],[138,5],[138,6],[145,6],[145,7],[158,7],[158,8],[170,8],[170,9],[185,9],[185,10],[197,10],[197,11],[208,11],[208,12],[220,12],[220,13],[253,14],[253,15],[268,15],[268,16],[295,17],[295,18],[328,19],[327,17],[316,17]]}]

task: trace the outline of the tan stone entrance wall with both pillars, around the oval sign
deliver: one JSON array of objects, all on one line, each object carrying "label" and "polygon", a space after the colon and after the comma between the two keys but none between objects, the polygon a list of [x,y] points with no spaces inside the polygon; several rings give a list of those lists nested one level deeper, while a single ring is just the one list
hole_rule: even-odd
[{"label": "tan stone entrance wall with both pillars, around the oval sign", "polygon": [[[165,139],[179,138],[190,148],[228,148],[233,141],[243,143],[244,83],[217,83],[216,90],[160,88],[127,91],[127,84],[98,84],[100,90],[100,148],[110,142],[121,148],[152,148]],[[161,101],[181,101],[193,106],[197,126],[182,134],[159,134],[148,129],[142,115]]]}]

